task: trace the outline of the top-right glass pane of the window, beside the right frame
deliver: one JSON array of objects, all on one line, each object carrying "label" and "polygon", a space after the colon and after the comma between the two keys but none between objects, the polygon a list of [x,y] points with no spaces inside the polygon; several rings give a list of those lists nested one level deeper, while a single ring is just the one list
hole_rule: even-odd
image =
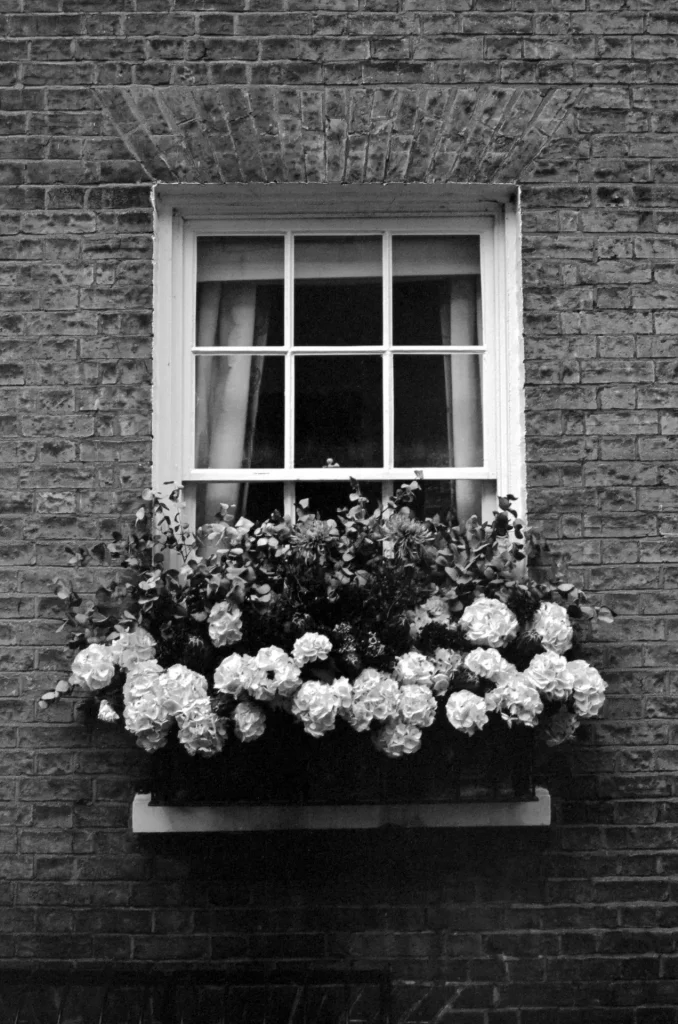
[{"label": "top-right glass pane of the window, beside the right frame", "polygon": [[393,344],[477,345],[477,238],[393,239]]}]

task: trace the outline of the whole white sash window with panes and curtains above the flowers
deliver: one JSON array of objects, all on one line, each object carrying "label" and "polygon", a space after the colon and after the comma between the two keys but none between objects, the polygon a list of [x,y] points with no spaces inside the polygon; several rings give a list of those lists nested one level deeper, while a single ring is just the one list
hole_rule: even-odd
[{"label": "whole white sash window with panes and curtains above the flowers", "polygon": [[513,206],[471,186],[160,189],[155,482],[181,481],[197,524],[224,502],[326,514],[351,477],[377,502],[417,470],[426,514],[520,499]]}]

